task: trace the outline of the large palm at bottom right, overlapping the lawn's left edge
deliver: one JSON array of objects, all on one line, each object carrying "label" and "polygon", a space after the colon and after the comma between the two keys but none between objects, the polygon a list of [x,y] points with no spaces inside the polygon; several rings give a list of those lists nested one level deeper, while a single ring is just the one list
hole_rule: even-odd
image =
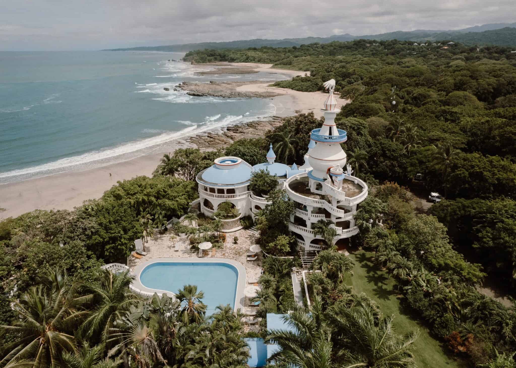
[{"label": "large palm at bottom right, overlapping the lawn's left edge", "polygon": [[348,350],[343,367],[415,367],[411,353],[418,331],[406,336],[394,333],[394,315],[376,321],[370,305],[357,300],[352,306],[330,308],[328,318],[342,348]]}]

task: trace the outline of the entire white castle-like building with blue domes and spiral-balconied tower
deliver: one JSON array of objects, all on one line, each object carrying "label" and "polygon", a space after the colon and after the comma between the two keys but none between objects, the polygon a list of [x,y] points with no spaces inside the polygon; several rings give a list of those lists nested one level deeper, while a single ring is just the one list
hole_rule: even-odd
[{"label": "entire white castle-like building with blue domes and spiral-balconied tower", "polygon": [[296,236],[299,249],[321,250],[326,244],[320,235],[314,235],[313,224],[319,220],[331,220],[337,235],[332,245],[345,243],[359,232],[353,215],[357,205],[367,197],[367,185],[346,166],[346,153],[341,144],[346,142],[346,131],[335,126],[336,101],[333,96],[335,81],[329,80],[329,90],[324,109],[325,122],[312,130],[304,164],[299,168],[275,162],[272,144],[267,153],[267,162],[251,166],[238,157],[220,157],[213,166],[197,175],[199,183],[200,211],[213,216],[223,202],[231,202],[239,216],[225,220],[224,228],[239,228],[241,216],[255,215],[270,202],[249,190],[251,173],[261,169],[278,177],[278,187],[285,189],[289,200],[294,202],[295,213],[291,216],[289,230]]}]

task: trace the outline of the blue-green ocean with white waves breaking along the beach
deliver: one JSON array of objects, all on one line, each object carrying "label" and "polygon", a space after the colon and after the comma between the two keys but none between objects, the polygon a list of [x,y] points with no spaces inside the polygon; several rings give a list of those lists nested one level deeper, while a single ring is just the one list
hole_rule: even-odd
[{"label": "blue-green ocean with white waves breaking along the beach", "polygon": [[173,140],[275,114],[266,98],[192,97],[173,87],[287,75],[199,76],[215,67],[168,61],[183,56],[0,52],[0,184],[125,161],[169,148]]}]

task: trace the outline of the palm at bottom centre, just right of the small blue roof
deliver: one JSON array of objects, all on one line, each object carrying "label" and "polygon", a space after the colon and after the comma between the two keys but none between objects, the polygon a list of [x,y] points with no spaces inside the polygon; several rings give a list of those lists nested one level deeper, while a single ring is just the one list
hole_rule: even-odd
[{"label": "palm at bottom centre, just right of the small blue roof", "polygon": [[280,349],[273,353],[268,362],[278,365],[329,368],[332,354],[331,330],[322,312],[322,302],[314,295],[310,311],[296,307],[296,310],[282,316],[294,331],[268,330],[266,343],[278,344]]}]

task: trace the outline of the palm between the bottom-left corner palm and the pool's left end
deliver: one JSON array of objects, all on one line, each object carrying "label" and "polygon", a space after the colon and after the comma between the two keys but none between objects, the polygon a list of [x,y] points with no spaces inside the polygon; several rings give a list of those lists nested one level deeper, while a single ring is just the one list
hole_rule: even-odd
[{"label": "palm between the bottom-left corner palm and the pool's left end", "polygon": [[102,340],[106,341],[109,329],[115,321],[138,303],[137,296],[128,289],[133,279],[128,271],[119,274],[101,271],[99,282],[88,286],[93,294],[95,309],[80,327],[80,336],[89,338],[100,333]]}]

